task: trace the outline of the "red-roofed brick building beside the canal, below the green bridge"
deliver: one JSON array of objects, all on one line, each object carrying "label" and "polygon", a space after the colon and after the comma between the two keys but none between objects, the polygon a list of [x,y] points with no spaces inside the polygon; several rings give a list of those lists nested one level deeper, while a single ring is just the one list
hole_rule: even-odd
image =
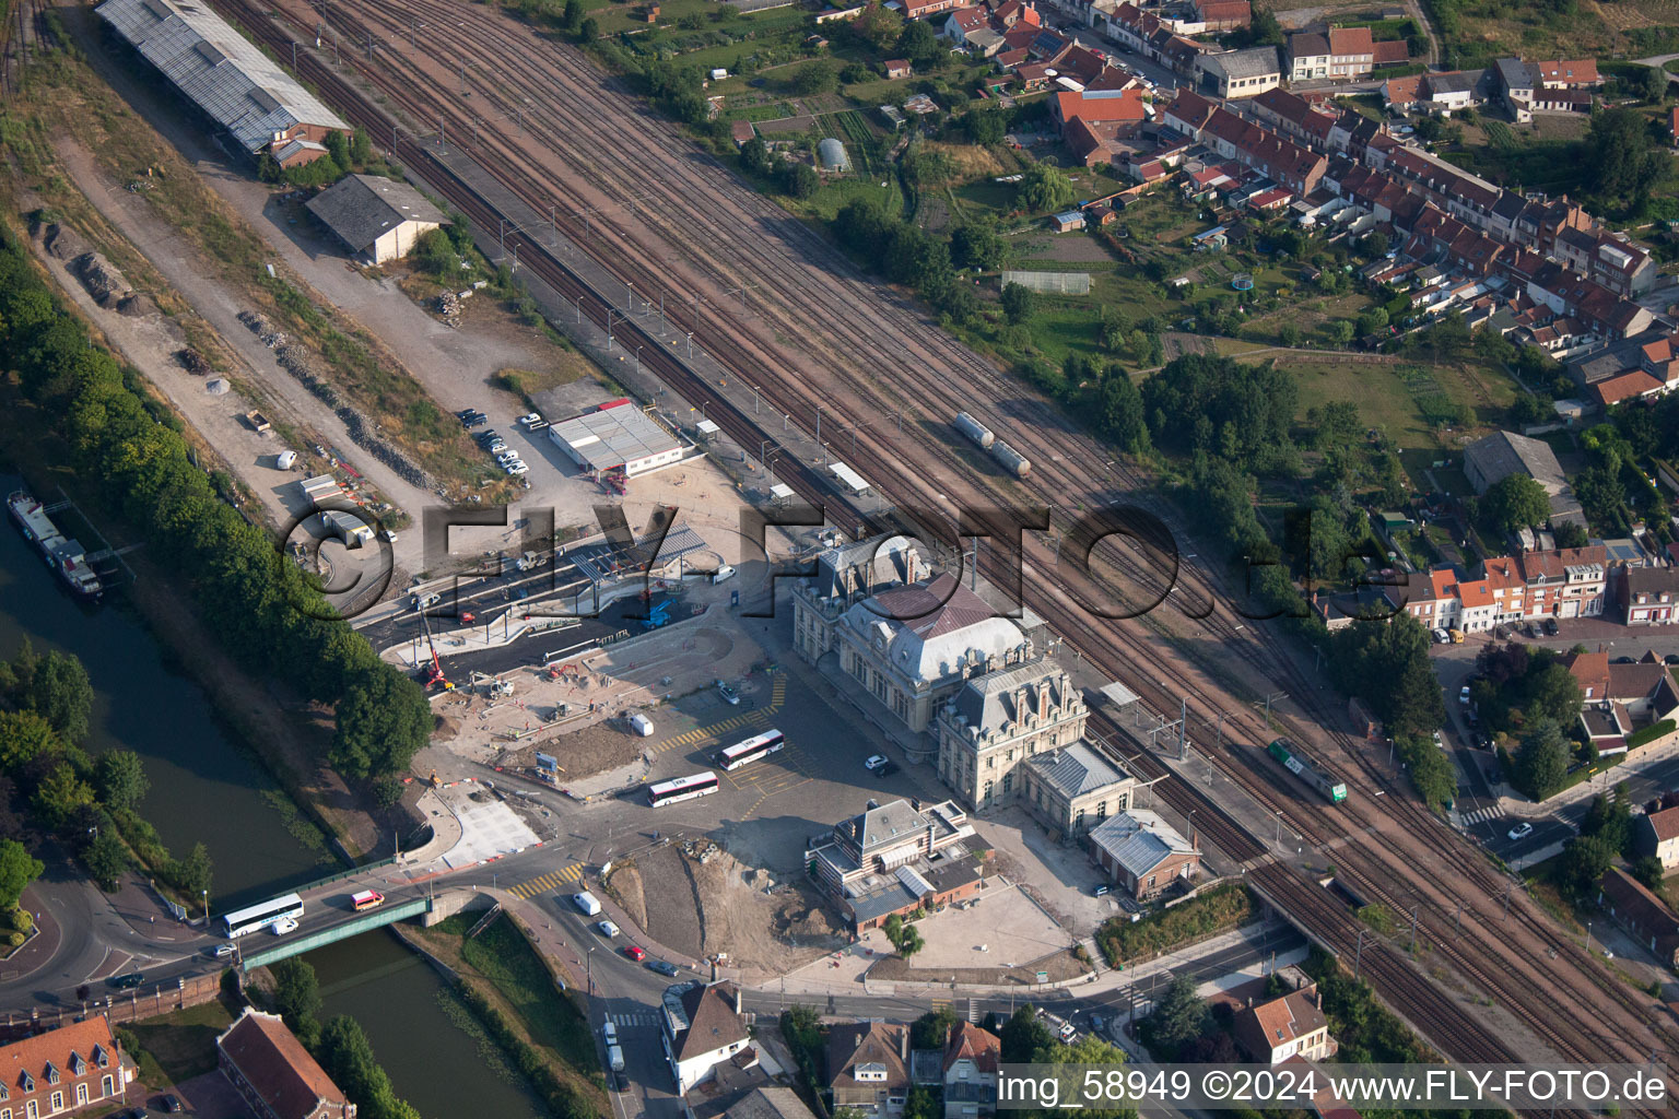
[{"label": "red-roofed brick building beside the canal, below the green bridge", "polygon": [[262,1119],[356,1119],[356,1106],[280,1015],[245,1007],[215,1049],[222,1075]]}]

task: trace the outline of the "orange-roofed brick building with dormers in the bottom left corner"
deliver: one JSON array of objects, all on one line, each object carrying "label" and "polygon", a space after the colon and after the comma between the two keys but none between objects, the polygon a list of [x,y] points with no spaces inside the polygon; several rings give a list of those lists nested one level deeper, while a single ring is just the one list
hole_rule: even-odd
[{"label": "orange-roofed brick building with dormers in the bottom left corner", "polygon": [[0,1119],[42,1119],[128,1099],[134,1069],[99,1015],[0,1047]]}]

